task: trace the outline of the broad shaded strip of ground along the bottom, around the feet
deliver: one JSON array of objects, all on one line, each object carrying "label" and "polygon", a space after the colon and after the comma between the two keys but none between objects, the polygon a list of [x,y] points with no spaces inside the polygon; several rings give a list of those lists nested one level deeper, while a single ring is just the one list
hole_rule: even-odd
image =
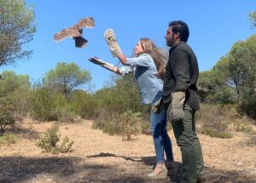
[{"label": "broad shaded strip of ground along the bottom, around the feet", "polygon": [[[91,164],[86,157],[0,157],[0,182],[178,182],[180,173],[169,172],[168,179],[148,180],[148,166],[154,165],[154,157],[124,157],[100,153],[87,158],[122,157],[134,161],[127,170],[119,166]],[[95,159],[95,161],[97,161]],[[91,162],[91,161],[90,161]],[[138,166],[137,166],[138,165]],[[180,163],[176,163],[180,171]],[[206,169],[207,183],[256,182],[256,175],[241,171]]]}]

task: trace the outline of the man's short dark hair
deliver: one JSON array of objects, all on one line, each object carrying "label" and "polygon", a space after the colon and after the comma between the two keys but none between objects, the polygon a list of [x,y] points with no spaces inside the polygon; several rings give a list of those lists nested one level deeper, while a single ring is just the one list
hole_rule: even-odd
[{"label": "man's short dark hair", "polygon": [[172,32],[179,32],[180,40],[183,42],[187,42],[189,39],[189,26],[181,20],[171,21],[169,23],[169,27],[172,26]]}]

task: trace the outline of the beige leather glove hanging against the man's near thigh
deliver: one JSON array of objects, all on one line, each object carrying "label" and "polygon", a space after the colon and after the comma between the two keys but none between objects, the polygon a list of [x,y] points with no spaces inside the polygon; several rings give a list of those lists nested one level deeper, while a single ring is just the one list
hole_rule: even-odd
[{"label": "beige leather glove hanging against the man's near thigh", "polygon": [[185,117],[183,106],[186,98],[186,94],[183,91],[177,91],[172,93],[172,102],[169,106],[169,118],[171,122],[177,122],[183,120]]}]

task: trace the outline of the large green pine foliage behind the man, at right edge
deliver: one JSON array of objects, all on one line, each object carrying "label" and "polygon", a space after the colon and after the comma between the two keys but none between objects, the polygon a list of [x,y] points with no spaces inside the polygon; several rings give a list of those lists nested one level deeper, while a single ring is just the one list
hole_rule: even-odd
[{"label": "large green pine foliage behind the man, at right edge", "polygon": [[200,73],[201,101],[236,104],[241,114],[256,119],[256,35],[234,43],[211,71]]}]

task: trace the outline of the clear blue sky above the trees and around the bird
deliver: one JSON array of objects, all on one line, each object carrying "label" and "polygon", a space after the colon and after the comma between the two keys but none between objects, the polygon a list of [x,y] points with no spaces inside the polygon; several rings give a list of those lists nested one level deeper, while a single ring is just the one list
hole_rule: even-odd
[{"label": "clear blue sky above the trees and around the bird", "polygon": [[[21,60],[15,66],[3,66],[0,71],[12,70],[27,74],[39,81],[57,62],[75,62],[90,71],[91,83],[101,89],[109,80],[110,72],[88,61],[92,56],[114,59],[105,43],[103,32],[113,28],[123,52],[130,56],[140,37],[151,38],[158,46],[166,45],[165,34],[171,20],[185,21],[190,30],[189,45],[194,49],[200,71],[207,71],[220,57],[228,54],[233,43],[253,35],[248,14],[256,10],[255,0],[27,0],[34,4],[38,31],[27,46],[33,49],[30,60]],[[53,35],[73,26],[82,17],[94,17],[96,26],[84,29],[89,41],[84,49],[76,49],[73,39],[60,43]]]}]

